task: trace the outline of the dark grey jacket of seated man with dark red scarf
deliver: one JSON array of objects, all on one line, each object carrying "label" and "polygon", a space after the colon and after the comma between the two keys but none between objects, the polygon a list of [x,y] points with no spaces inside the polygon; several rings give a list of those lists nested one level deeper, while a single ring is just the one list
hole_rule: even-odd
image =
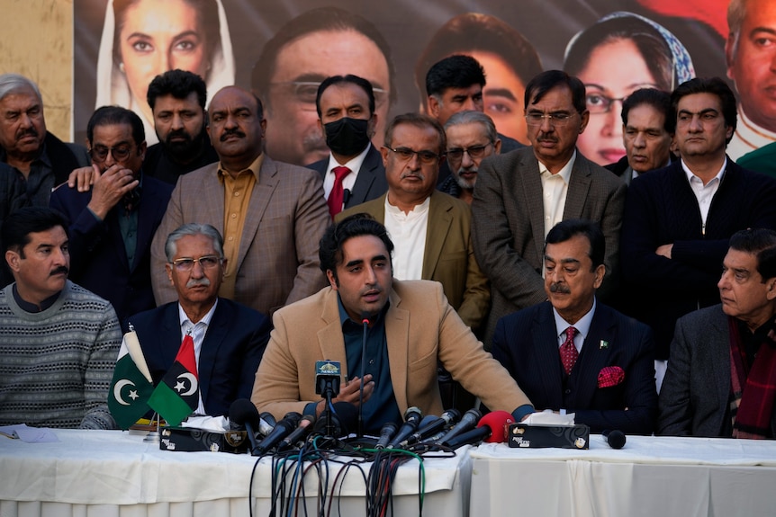
[{"label": "dark grey jacket of seated man with dark red scarf", "polygon": [[[721,305],[676,322],[656,434],[730,437],[730,331]],[[776,435],[776,411],[771,414]]]}]

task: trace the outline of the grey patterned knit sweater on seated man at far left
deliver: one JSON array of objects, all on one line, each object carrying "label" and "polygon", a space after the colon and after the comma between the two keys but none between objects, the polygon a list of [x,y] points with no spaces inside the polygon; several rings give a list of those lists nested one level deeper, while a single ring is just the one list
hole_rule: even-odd
[{"label": "grey patterned knit sweater on seated man at far left", "polygon": [[0,425],[114,429],[108,388],[122,340],[111,304],[68,281],[44,311],[0,290]]}]

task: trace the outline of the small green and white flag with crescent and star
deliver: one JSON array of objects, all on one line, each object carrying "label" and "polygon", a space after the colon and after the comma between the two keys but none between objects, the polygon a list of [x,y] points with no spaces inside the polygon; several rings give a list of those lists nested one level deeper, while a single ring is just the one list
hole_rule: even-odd
[{"label": "small green and white flag with crescent and star", "polygon": [[130,332],[124,334],[122,339],[108,393],[108,408],[119,427],[129,429],[131,424],[149,411],[149,397],[153,390],[153,380],[140,348],[138,334],[130,325]]}]

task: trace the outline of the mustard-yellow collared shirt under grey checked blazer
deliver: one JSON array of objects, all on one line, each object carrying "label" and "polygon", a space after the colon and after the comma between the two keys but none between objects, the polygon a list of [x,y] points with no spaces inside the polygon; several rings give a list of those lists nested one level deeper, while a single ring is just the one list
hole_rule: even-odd
[{"label": "mustard-yellow collared shirt under grey checked blazer", "polygon": [[[237,258],[239,243],[242,239],[242,229],[248,217],[250,195],[253,187],[259,182],[258,172],[264,163],[264,154],[257,156],[247,169],[239,172],[236,178],[218,164],[218,177],[223,185],[223,255],[227,259],[223,272],[223,282],[218,291],[222,298],[234,298],[234,284],[237,277]],[[196,200],[191,200],[196,202]]]}]

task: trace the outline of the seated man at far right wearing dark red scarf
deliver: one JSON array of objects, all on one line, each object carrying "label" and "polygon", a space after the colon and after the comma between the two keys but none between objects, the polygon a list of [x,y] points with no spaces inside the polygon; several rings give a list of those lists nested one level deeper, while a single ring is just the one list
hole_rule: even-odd
[{"label": "seated man at far right wearing dark red scarf", "polygon": [[776,231],[730,237],[717,287],[676,323],[657,433],[776,438]]}]

